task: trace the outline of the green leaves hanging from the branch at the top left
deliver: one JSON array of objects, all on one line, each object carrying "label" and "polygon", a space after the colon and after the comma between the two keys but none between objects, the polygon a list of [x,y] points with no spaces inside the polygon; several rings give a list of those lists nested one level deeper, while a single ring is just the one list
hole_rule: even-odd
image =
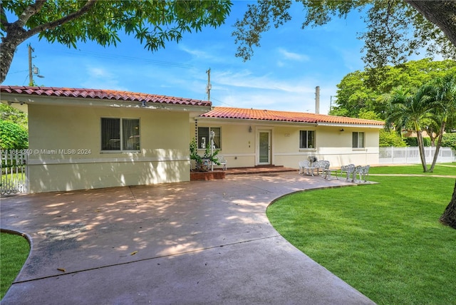
[{"label": "green leaves hanging from the branch at the top left", "polygon": [[[40,2],[41,4],[41,2]],[[0,46],[8,40],[14,47],[2,49],[0,83],[6,78],[14,48],[26,38],[38,33],[40,39],[76,48],[82,41],[95,41],[100,46],[116,46],[119,32],[135,35],[145,48],[156,51],[164,48],[167,41],[179,42],[183,33],[202,31],[205,26],[217,27],[229,15],[231,1],[45,1],[29,18],[24,18],[24,27],[8,26],[6,11],[18,18],[35,5],[34,1],[3,1],[1,6]],[[11,21],[10,21],[11,22]],[[20,34],[20,35],[19,35]],[[14,39],[13,39],[14,38]]]}]

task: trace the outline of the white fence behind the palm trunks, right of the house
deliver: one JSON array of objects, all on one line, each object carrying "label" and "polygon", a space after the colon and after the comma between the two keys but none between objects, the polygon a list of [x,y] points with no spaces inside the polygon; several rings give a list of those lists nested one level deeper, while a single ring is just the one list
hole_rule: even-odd
[{"label": "white fence behind the palm trunks, right of the house", "polygon": [[[432,163],[435,148],[425,147],[426,163]],[[418,147],[380,148],[380,164],[420,164]],[[456,162],[456,151],[452,148],[440,148],[437,163]]]}]

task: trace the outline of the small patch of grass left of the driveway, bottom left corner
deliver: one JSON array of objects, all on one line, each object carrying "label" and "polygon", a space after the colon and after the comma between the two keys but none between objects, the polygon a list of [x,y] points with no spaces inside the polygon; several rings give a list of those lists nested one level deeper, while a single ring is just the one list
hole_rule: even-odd
[{"label": "small patch of grass left of the driveway, bottom left corner", "polygon": [[30,252],[27,239],[21,235],[0,233],[0,299],[21,271]]}]

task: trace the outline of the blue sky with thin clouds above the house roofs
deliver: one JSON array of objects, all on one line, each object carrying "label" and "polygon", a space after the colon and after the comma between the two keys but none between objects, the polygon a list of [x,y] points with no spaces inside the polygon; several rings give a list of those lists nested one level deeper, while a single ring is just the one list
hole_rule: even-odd
[{"label": "blue sky with thin clouds above the house roofs", "polygon": [[294,4],[293,19],[263,36],[261,47],[244,62],[234,56],[233,24],[242,18],[247,1],[234,1],[224,26],[185,34],[152,53],[133,37],[121,36],[117,47],[78,43],[78,49],[28,39],[16,51],[3,85],[28,85],[28,43],[33,65],[45,78],[38,86],[96,88],[171,95],[207,100],[207,69],[211,68],[211,101],[215,106],[315,111],[315,87],[320,86],[320,113],[329,110],[331,95],[347,73],[362,70],[365,29],[360,14],[334,19],[326,26],[301,29],[302,6]]}]

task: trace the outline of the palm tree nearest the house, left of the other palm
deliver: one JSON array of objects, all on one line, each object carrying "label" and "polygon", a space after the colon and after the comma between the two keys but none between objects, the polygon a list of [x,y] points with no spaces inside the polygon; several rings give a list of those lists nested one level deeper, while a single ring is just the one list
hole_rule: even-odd
[{"label": "palm tree nearest the house, left of the other palm", "polygon": [[430,85],[421,86],[414,94],[402,87],[395,88],[390,98],[390,108],[385,122],[387,127],[394,125],[398,131],[403,128],[412,128],[416,131],[424,172],[427,172],[427,165],[422,125],[423,121],[432,118],[431,110],[434,100],[435,89]]}]

